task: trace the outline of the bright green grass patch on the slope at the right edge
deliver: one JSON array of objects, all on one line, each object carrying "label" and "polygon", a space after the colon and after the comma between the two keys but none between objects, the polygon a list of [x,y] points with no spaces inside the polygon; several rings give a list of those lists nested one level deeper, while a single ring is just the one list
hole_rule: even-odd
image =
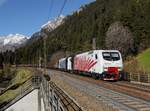
[{"label": "bright green grass patch on the slope at the right edge", "polygon": [[146,72],[150,72],[150,48],[138,55],[139,66]]}]

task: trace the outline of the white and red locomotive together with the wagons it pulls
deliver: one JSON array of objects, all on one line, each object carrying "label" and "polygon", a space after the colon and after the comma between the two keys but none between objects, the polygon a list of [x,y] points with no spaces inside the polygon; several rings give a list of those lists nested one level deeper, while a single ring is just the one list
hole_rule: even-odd
[{"label": "white and red locomotive together with the wagons it pulls", "polygon": [[123,73],[123,60],[118,50],[92,50],[61,58],[57,67],[93,78],[117,81]]}]

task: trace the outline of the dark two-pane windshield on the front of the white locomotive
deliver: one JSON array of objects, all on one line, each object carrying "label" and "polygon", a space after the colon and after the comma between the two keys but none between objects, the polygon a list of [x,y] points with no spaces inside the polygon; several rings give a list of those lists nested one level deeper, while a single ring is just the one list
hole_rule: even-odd
[{"label": "dark two-pane windshield on the front of the white locomotive", "polygon": [[103,52],[103,58],[108,61],[117,61],[120,60],[118,52]]}]

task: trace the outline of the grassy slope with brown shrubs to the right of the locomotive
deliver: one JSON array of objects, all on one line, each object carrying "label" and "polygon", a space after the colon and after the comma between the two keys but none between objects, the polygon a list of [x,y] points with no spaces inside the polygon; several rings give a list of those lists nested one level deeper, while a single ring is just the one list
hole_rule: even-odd
[{"label": "grassy slope with brown shrubs to the right of the locomotive", "polygon": [[125,62],[125,70],[131,73],[150,73],[150,48],[141,52],[136,58]]}]

